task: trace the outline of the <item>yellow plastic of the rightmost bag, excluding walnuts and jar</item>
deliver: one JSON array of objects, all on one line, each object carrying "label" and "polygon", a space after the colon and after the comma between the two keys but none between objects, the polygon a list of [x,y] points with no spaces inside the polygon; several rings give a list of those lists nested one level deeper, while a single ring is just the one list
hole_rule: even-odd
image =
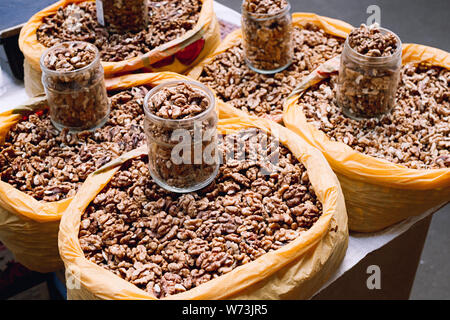
[{"label": "yellow plastic of the rightmost bag, excluding walnuts and jar", "polygon": [[[450,53],[417,44],[403,45],[403,63],[427,63],[450,69]],[[346,199],[349,228],[373,232],[408,217],[438,208],[450,200],[450,169],[416,170],[362,154],[344,143],[331,141],[308,124],[297,105],[312,85],[339,70],[331,59],[304,79],[284,104],[286,127],[323,152],[339,178]]]}]

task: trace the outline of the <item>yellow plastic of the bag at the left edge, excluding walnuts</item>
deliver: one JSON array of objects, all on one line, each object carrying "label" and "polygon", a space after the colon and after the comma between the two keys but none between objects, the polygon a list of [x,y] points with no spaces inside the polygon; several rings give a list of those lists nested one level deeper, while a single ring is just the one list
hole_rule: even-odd
[{"label": "yellow plastic of the bag at the left edge, excluding walnuts", "polygon": [[[142,78],[142,77],[141,77]],[[168,80],[187,77],[172,73],[147,73],[145,78],[110,80],[108,89],[129,88],[140,84],[157,86]],[[128,82],[127,82],[128,81]],[[26,104],[0,114],[0,145],[12,126],[24,114],[47,108],[45,97],[30,99]],[[51,272],[63,267],[58,252],[58,228],[63,211],[73,198],[44,202],[0,181],[0,241],[10,249],[18,262],[38,272]]]}]

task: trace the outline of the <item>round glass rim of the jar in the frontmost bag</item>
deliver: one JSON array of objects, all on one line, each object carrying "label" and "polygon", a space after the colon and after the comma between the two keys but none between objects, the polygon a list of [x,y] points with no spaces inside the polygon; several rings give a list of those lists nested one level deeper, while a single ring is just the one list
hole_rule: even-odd
[{"label": "round glass rim of the jar in the frontmost bag", "polygon": [[[153,96],[156,92],[160,91],[163,88],[175,86],[175,85],[182,84],[182,83],[188,84],[188,85],[194,85],[194,86],[200,88],[201,90],[203,90],[203,92],[206,93],[206,96],[208,97],[209,102],[210,102],[208,108],[206,108],[205,110],[203,110],[202,112],[200,112],[199,114],[197,114],[191,118],[184,118],[184,119],[166,119],[166,118],[159,117],[150,111],[150,109],[148,108],[148,103],[149,103],[151,96]],[[163,82],[163,83],[157,85],[156,87],[152,88],[149,92],[147,92],[147,94],[144,97],[144,113],[148,118],[156,120],[156,121],[162,121],[162,122],[172,123],[172,124],[184,124],[184,123],[189,123],[189,122],[196,121],[196,120],[201,120],[201,119],[205,118],[206,116],[208,116],[208,113],[211,110],[215,109],[215,106],[216,106],[216,99],[215,99],[215,96],[214,96],[214,93],[212,92],[212,90],[209,87],[205,86],[203,83],[194,81],[194,80],[171,80],[171,81]]]}]

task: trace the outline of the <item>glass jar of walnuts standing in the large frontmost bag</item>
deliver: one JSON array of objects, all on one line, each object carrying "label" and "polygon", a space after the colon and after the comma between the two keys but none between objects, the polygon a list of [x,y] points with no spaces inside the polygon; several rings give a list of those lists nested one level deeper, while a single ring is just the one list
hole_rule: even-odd
[{"label": "glass jar of walnuts standing in the large frontmost bag", "polygon": [[[166,88],[186,83],[208,99],[206,110],[192,118],[165,119],[150,111],[153,97]],[[195,81],[169,81],[150,90],[144,99],[144,129],[149,169],[153,180],[166,190],[192,192],[209,185],[219,171],[214,94]]]}]

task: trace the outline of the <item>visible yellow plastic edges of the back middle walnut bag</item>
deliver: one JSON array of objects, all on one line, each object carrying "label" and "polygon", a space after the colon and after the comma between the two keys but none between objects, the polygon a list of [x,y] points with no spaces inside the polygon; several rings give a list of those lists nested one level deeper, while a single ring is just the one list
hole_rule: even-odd
[{"label": "visible yellow plastic edges of the back middle walnut bag", "polygon": [[[330,35],[334,35],[341,38],[346,38],[347,34],[352,30],[352,26],[348,23],[328,18],[324,16],[319,16],[314,13],[304,13],[304,12],[296,12],[292,14],[292,24],[296,27],[302,27],[307,24],[313,24],[318,26],[320,29],[323,29],[326,33]],[[211,63],[211,61],[214,60],[214,58],[225,52],[228,48],[233,47],[240,42],[242,42],[242,31],[241,29],[234,30],[231,32],[217,47],[217,49],[207,56],[203,61],[201,61],[199,64],[197,64],[194,68],[192,68],[191,71],[189,71],[188,76],[193,79],[198,79],[200,75],[202,74],[203,68],[205,65],[208,65]],[[242,115],[245,116],[246,112],[240,109],[237,109],[235,107],[229,106],[229,108],[226,108],[226,110],[229,110],[231,113],[228,114],[225,112],[225,110],[221,110],[220,118],[227,118],[227,117],[233,117],[236,115]],[[273,120],[275,122],[281,122],[282,116],[270,116],[267,115],[267,118],[270,120]]]}]

